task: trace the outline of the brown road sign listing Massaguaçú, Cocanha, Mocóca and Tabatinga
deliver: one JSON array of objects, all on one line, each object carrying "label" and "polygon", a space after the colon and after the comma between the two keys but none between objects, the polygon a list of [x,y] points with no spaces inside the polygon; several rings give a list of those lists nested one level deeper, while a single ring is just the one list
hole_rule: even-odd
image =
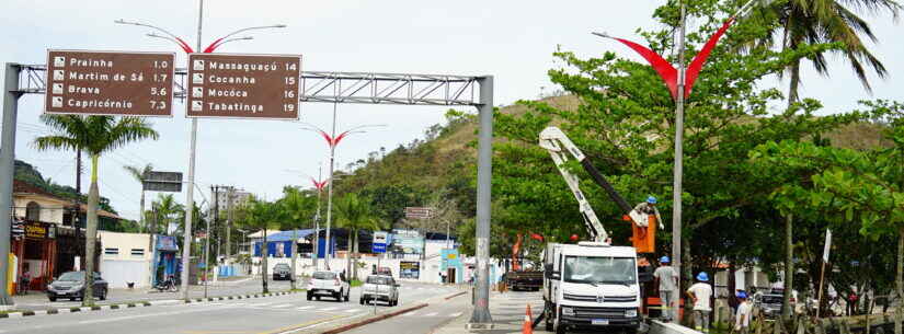
[{"label": "brown road sign listing Massagua\u00e7\u00fa, Cocanha, Moc\u00f3ca and Tabatinga", "polygon": [[191,54],[188,117],[298,119],[300,56]]}]

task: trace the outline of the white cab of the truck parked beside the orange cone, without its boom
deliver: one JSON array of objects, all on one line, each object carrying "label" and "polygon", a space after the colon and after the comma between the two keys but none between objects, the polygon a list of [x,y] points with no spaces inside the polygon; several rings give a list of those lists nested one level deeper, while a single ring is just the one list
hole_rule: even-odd
[{"label": "white cab of the truck parked beside the orange cone, without its boom", "polygon": [[637,251],[599,242],[550,243],[543,253],[546,330],[641,327]]}]

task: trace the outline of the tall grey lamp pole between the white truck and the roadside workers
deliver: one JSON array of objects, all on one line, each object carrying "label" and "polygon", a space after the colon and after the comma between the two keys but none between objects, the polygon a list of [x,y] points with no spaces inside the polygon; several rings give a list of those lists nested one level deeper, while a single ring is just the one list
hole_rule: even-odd
[{"label": "tall grey lamp pole between the white truck and the roadside workers", "polygon": [[674,314],[672,314],[672,322],[679,323],[678,308],[680,307],[682,298],[682,175],[684,175],[684,87],[685,87],[685,26],[687,22],[687,13],[685,2],[682,1],[682,22],[678,30],[678,92],[675,106],[675,169],[674,169],[674,186],[672,200],[672,261],[678,272],[678,284],[673,293],[675,300]]}]

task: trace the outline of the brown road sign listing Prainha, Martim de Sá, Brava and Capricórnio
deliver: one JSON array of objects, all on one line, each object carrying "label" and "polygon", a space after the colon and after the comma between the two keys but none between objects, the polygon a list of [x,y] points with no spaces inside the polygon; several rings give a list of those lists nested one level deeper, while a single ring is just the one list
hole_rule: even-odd
[{"label": "brown road sign listing Prainha, Martim de S\u00e1, Brava and Capric\u00f3rnio", "polygon": [[47,50],[48,114],[172,116],[174,54]]}]

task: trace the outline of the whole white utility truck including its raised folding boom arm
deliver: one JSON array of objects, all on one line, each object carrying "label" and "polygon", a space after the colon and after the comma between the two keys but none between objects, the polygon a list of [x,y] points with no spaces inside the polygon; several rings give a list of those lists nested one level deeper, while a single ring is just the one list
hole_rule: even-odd
[{"label": "whole white utility truck including its raised folding boom arm", "polygon": [[[577,244],[547,244],[543,251],[546,330],[556,333],[608,329],[621,329],[627,333],[645,332],[641,283],[650,277],[639,276],[638,249],[610,244],[603,223],[579,187],[580,180],[564,166],[569,156],[581,162],[629,220],[638,216],[637,211],[628,206],[562,130],[546,128],[540,133],[540,147],[549,151],[577,199],[587,232],[593,239],[593,242]],[[655,230],[655,226],[652,229]],[[639,238],[633,241],[634,244],[648,242]]]}]

